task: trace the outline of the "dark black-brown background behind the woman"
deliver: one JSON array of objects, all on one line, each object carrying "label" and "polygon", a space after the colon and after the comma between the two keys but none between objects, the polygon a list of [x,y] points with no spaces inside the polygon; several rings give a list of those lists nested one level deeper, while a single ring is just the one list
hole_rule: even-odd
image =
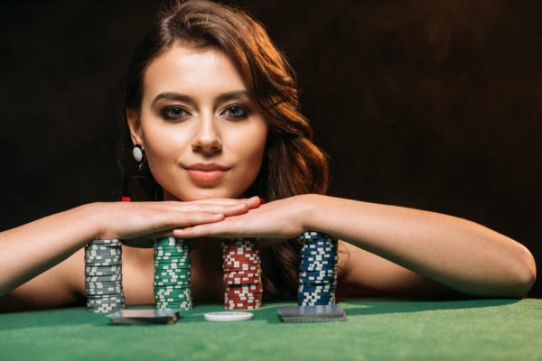
[{"label": "dark black-brown background behind the woman", "polygon": [[[158,4],[2,2],[0,230],[117,199],[122,82]],[[330,194],[471,219],[541,268],[542,2],[237,4],[297,71]]]}]

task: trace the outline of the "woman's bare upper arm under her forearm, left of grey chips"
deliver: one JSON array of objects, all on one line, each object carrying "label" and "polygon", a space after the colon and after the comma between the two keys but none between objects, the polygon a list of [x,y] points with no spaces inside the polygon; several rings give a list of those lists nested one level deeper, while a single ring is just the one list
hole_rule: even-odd
[{"label": "woman's bare upper arm under her forearm, left of grey chips", "polygon": [[0,311],[35,310],[82,304],[84,249],[0,297]]}]

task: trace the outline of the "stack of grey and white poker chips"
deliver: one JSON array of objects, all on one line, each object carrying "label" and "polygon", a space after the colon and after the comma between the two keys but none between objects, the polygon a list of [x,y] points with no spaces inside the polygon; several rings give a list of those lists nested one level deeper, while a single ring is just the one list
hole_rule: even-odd
[{"label": "stack of grey and white poker chips", "polygon": [[85,245],[85,288],[90,312],[124,308],[122,243],[118,239],[95,239]]}]

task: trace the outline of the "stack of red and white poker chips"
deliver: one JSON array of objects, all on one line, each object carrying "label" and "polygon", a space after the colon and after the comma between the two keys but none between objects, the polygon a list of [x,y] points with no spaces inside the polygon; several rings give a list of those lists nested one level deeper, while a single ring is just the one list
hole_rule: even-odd
[{"label": "stack of red and white poker chips", "polygon": [[262,269],[256,242],[233,238],[222,242],[224,308],[251,310],[262,305]]}]

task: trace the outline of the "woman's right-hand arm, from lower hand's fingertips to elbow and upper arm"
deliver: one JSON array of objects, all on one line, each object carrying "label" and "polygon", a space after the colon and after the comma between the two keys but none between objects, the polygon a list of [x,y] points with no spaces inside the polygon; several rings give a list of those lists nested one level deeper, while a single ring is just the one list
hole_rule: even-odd
[{"label": "woman's right-hand arm, from lower hand's fingertips to elbow and upper arm", "polygon": [[360,290],[407,292],[404,288],[411,285],[425,295],[443,294],[438,282],[474,296],[520,298],[536,278],[528,249],[487,227],[433,212],[320,195],[277,200],[246,215],[173,234],[287,238],[305,230],[360,247],[346,266],[346,279]]}]

